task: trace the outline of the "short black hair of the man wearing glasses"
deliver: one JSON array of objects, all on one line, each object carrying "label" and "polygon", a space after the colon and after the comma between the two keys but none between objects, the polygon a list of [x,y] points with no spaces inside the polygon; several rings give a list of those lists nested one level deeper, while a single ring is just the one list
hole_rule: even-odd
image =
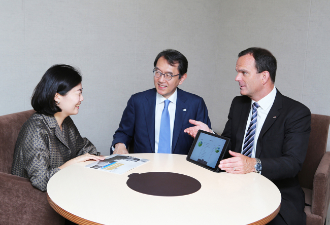
[{"label": "short black hair of the man wearing glasses", "polygon": [[[160,52],[154,63],[153,63],[153,66],[156,67],[156,64],[158,62],[158,59],[160,57],[164,57],[168,63],[171,65],[171,66],[175,66],[175,64],[179,64],[178,65],[178,70],[180,72],[180,75],[179,75],[179,80],[181,79],[182,75],[187,73],[187,70],[188,70],[188,60],[186,59],[186,57],[184,55],[182,55],[180,52],[178,52],[177,50],[174,50],[174,49],[167,49],[167,50],[164,50],[162,52]],[[173,75],[176,75],[176,74],[173,74]]]}]

